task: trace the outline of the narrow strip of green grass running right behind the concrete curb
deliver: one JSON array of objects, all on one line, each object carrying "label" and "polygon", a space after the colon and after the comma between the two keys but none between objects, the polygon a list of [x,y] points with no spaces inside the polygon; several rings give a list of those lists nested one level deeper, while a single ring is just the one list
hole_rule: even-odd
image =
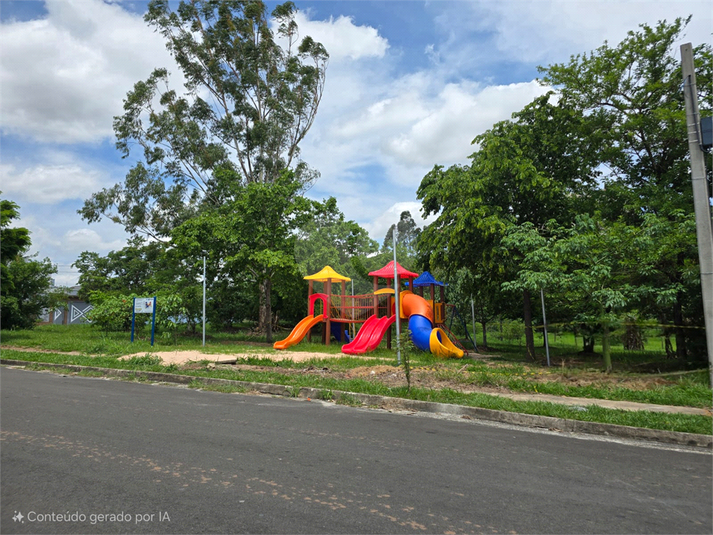
[{"label": "narrow strip of green grass running right behind the concrete curb", "polygon": [[[605,409],[601,407],[588,407],[586,410],[576,409],[554,403],[545,403],[539,401],[514,401],[503,397],[491,396],[481,393],[463,393],[452,389],[429,390],[423,388],[412,388],[410,393],[407,393],[406,386],[391,388],[379,382],[368,381],[364,379],[334,379],[329,377],[321,377],[314,374],[285,374],[280,373],[277,368],[283,366],[272,366],[275,371],[270,370],[237,370],[237,369],[212,369],[201,367],[194,370],[179,370],[177,366],[164,366],[158,362],[155,357],[150,355],[134,357],[128,360],[119,360],[113,356],[89,357],[84,355],[66,355],[56,353],[36,353],[36,352],[20,352],[13,350],[3,350],[3,358],[26,360],[36,362],[37,367],[41,368],[43,362],[59,363],[59,364],[77,364],[83,366],[106,367],[114,369],[127,369],[136,371],[156,371],[168,373],[180,373],[185,376],[192,377],[213,377],[221,379],[229,379],[235,381],[261,382],[280,384],[286,387],[291,387],[292,392],[296,393],[301,387],[317,388],[323,392],[328,392],[329,397],[333,397],[333,392],[347,391],[364,394],[377,394],[392,397],[404,397],[410,399],[420,399],[424,401],[434,401],[440,403],[455,403],[459,405],[482,407],[494,410],[504,410],[511,412],[520,412],[525,414],[536,414],[541,416],[552,416],[557,418],[567,418],[574,420],[584,420],[601,423],[611,423],[617,425],[627,425],[634,427],[644,427],[651,429],[663,429],[669,431],[679,431],[698,434],[712,434],[712,420],[707,416],[685,415],[685,414],[668,414],[668,413],[653,413],[646,411],[621,411]],[[340,358],[334,360],[320,360],[322,366],[332,367],[333,363],[342,361],[342,365],[348,366],[355,363],[364,364],[363,361],[353,359],[351,357]],[[272,361],[270,361],[272,362]],[[392,359],[393,363],[393,359]],[[204,363],[204,364],[207,364]],[[292,363],[293,366],[299,368],[305,363]],[[429,362],[426,362],[429,364]],[[433,361],[430,362],[433,364]],[[441,364],[443,364],[441,362]],[[451,363],[448,363],[451,364]],[[463,362],[455,363],[462,367]],[[468,364],[467,366],[479,369],[484,366],[482,363]],[[137,376],[138,377],[138,376]],[[206,386],[197,382],[193,383],[194,387],[199,387],[204,390],[216,390],[224,392],[239,392],[242,387],[237,386],[222,386],[210,385]],[[538,390],[540,390],[538,388]],[[710,391],[708,392],[710,397]],[[338,403],[357,405],[358,401],[353,396],[340,396]]]}]

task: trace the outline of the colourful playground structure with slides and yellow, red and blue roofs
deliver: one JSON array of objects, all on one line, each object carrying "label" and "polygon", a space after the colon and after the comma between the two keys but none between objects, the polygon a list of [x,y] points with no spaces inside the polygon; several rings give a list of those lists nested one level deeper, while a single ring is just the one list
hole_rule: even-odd
[{"label": "colourful playground structure with slides and yellow, red and blue roofs", "polygon": [[[386,345],[391,348],[391,326],[400,320],[408,320],[408,328],[414,345],[422,351],[430,351],[441,358],[462,358],[463,346],[445,326],[445,300],[443,283],[436,281],[430,273],[420,277],[396,263],[399,281],[399,313],[395,310],[394,262],[369,273],[374,279],[374,292],[366,295],[346,295],[346,283],[351,279],[337,273],[330,266],[325,266],[314,275],[308,275],[308,315],[302,319],[284,340],[275,342],[275,349],[287,349],[299,343],[305,336],[311,340],[312,328],[323,324],[322,339],[329,345],[331,336],[348,343],[342,346],[347,354],[363,354],[376,349],[386,335]],[[379,279],[391,281],[391,287],[379,288]],[[314,283],[323,284],[323,292],[314,292]],[[333,294],[335,283],[341,292]],[[402,290],[402,285],[420,291],[417,295],[410,289]],[[435,287],[440,286],[440,299],[435,296]],[[430,287],[430,299],[423,297],[423,290]],[[318,307],[321,305],[321,313]],[[435,311],[435,313],[434,313]],[[362,324],[353,340],[345,327],[350,324]],[[448,332],[447,332],[448,331]],[[449,338],[449,334],[451,338]],[[460,345],[460,347],[457,347]]]}]

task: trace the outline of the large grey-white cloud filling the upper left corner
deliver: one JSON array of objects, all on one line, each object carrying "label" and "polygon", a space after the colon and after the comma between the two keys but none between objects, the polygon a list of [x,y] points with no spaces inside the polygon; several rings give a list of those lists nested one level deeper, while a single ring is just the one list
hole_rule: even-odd
[{"label": "large grey-white cloud filling the upper left corner", "polygon": [[3,131],[56,143],[111,136],[133,84],[174,65],[162,38],[116,4],[65,0],[46,8],[45,19],[0,27]]}]

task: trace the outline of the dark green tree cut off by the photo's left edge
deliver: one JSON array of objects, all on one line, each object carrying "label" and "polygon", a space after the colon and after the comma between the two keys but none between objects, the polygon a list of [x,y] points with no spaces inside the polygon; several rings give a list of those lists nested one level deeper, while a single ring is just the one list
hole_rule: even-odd
[{"label": "dark green tree cut off by the photo's left edge", "polygon": [[49,258],[38,261],[25,256],[32,242],[26,228],[11,228],[20,216],[19,206],[0,200],[0,246],[2,280],[0,309],[3,329],[31,329],[43,309],[53,304],[57,296],[50,292],[52,275],[57,268]]}]

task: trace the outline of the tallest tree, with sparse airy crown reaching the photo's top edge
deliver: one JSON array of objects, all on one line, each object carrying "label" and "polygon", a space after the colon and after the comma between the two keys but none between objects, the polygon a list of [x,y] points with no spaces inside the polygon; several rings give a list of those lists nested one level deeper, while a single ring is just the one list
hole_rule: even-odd
[{"label": "tallest tree, with sparse airy crown reaching the photo's top edge", "polygon": [[[165,38],[185,91],[169,89],[168,72],[156,69],[128,93],[114,120],[117,148],[128,157],[137,145],[143,159],[123,184],[92,195],[82,216],[163,240],[233,201],[238,190],[225,177],[269,187],[291,170],[306,188],[317,174],[299,159],[299,144],[319,107],[328,54],[310,37],[297,42],[295,13],[292,2],[273,10],[275,36],[259,0],[182,1],[175,11],[152,1],[144,20]],[[271,279],[257,283],[267,332]]]}]

